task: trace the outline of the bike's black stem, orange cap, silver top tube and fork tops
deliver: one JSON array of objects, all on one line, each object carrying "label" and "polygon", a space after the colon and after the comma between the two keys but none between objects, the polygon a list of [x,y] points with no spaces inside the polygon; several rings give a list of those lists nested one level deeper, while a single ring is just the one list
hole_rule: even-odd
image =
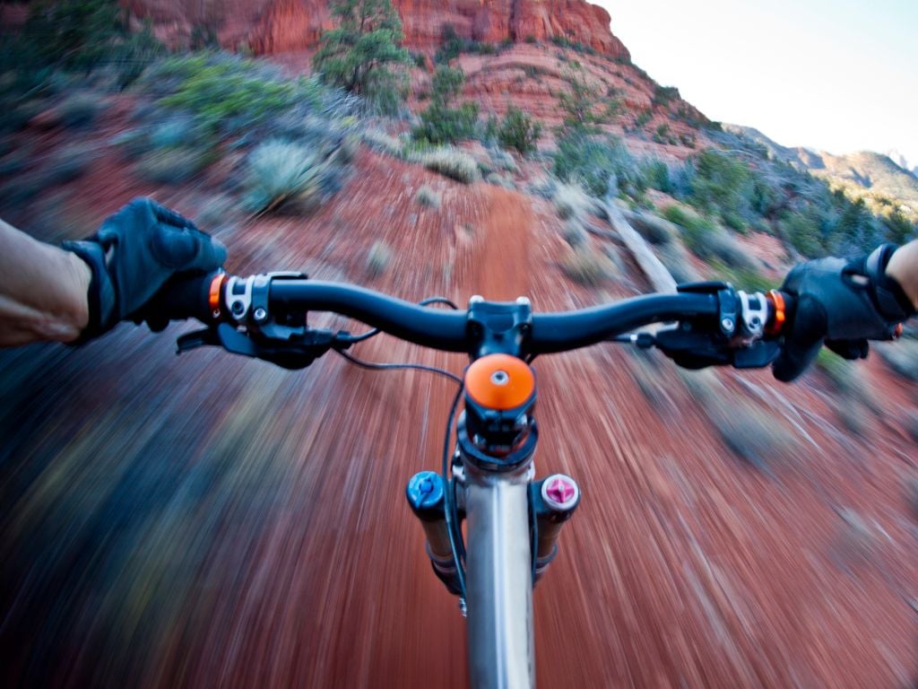
[{"label": "bike's black stem, orange cap, silver top tube and fork tops", "polygon": [[[529,300],[492,303],[473,297],[467,327],[476,344],[470,350],[473,363],[465,371],[465,412],[456,424],[453,481],[457,503],[465,508],[470,681],[487,689],[532,687],[532,587],[554,557],[557,531],[566,516],[554,514],[559,505],[543,484],[532,491],[539,435],[533,417],[535,374],[521,358],[532,332]],[[454,591],[461,572],[450,571],[441,557],[450,537],[439,519],[443,508],[425,512],[436,503],[431,491],[412,495],[411,483],[422,481],[416,476],[409,482],[409,503],[424,523],[434,571]],[[423,481],[428,488],[435,483]],[[439,486],[444,495],[453,490],[442,480]],[[564,490],[560,494],[560,512],[569,513],[577,501],[567,501]]]}]

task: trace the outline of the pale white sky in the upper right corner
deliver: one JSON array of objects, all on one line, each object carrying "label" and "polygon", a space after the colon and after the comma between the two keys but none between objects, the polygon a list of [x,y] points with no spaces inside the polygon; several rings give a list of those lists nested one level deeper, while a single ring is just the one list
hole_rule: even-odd
[{"label": "pale white sky in the upper right corner", "polygon": [[592,0],[633,61],[711,119],[918,165],[918,0]]}]

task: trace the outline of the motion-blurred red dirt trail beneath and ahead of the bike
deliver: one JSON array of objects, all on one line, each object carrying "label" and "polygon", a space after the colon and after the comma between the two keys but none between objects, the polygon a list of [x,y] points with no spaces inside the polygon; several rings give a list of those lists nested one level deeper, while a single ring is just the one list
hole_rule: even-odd
[{"label": "motion-blurred red dirt trail beneath and ahead of the bike", "polygon": [[[109,174],[81,187],[99,217],[126,200],[98,184]],[[422,184],[442,191],[439,209],[414,200]],[[557,229],[517,192],[362,152],[317,216],[218,233],[235,272],[305,268],[406,299],[595,303],[558,268]],[[377,240],[393,258],[370,279]],[[439,467],[453,384],[332,355],[301,373],[176,358],[188,327],[0,354],[5,685],[465,686],[465,623],[403,494]],[[465,364],[385,336],[355,353]],[[890,392],[850,435],[818,374],[720,374],[731,403],[767,401],[786,435],[756,468],[667,361],[635,367],[609,345],[535,368],[537,469],[583,490],[535,592],[541,686],[913,685],[916,453],[899,420],[914,384],[871,359],[874,390]]]}]

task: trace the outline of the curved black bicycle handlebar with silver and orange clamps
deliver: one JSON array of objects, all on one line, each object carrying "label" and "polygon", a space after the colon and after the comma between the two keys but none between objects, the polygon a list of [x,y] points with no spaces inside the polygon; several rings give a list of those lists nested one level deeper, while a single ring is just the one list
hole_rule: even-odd
[{"label": "curved black bicycle handlebar with silver and orange clamps", "polygon": [[[212,330],[218,330],[221,322],[244,326],[247,336],[253,334],[262,343],[270,342],[274,352],[277,351],[274,345],[293,348],[297,343],[315,351],[317,341],[315,337],[304,337],[307,333],[327,336],[327,343],[322,339],[319,346],[328,343],[328,346],[334,343],[347,346],[353,342],[353,338],[347,339],[350,337],[347,333],[313,331],[306,326],[308,311],[332,311],[414,344],[472,356],[485,351],[480,332],[482,317],[487,320],[488,331],[498,333],[498,342],[507,344],[511,337],[516,338],[519,356],[570,351],[657,322],[689,322],[697,326],[679,333],[678,341],[670,335],[666,341],[654,343],[665,344],[677,353],[697,346],[698,337],[708,335],[719,338],[721,348],[731,342],[742,347],[763,339],[767,325],[776,318],[775,301],[770,295],[767,299],[764,295],[745,295],[722,283],[700,283],[679,289],[676,294],[645,295],[577,311],[531,313],[529,301],[524,298],[515,304],[473,298],[467,311],[443,311],[372,289],[310,280],[299,274],[240,278],[217,273],[174,280],[162,289],[148,311],[167,315],[170,320],[195,318]],[[790,299],[789,295],[774,294],[784,302],[782,308]],[[748,327],[748,319],[744,322],[752,303],[749,299],[755,299],[757,305],[758,311],[753,314],[759,317],[757,329]],[[787,307],[791,308],[789,304]],[[505,341],[500,340],[502,337]],[[225,338],[202,344],[222,344],[230,351],[243,353],[228,346]],[[664,346],[661,348],[666,351]],[[732,357],[718,363],[739,365]]]}]

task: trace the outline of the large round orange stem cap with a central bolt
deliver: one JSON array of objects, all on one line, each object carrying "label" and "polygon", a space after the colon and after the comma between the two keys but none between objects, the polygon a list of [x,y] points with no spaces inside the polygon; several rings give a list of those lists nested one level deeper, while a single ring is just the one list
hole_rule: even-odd
[{"label": "large round orange stem cap with a central bolt", "polygon": [[465,370],[465,392],[487,409],[514,409],[532,397],[535,374],[516,356],[482,356]]}]

